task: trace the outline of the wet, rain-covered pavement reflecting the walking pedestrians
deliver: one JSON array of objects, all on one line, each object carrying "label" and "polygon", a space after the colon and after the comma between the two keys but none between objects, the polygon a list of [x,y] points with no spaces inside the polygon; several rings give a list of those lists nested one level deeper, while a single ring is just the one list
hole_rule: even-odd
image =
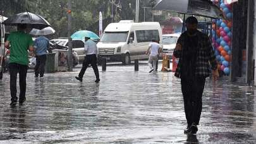
[{"label": "wet, rain-covered pavement reflecting the walking pedestrians", "polygon": [[[159,66],[161,66],[159,64]],[[0,143],[256,143],[256,88],[225,78],[205,84],[197,135],[186,126],[180,80],[145,64],[113,64],[94,83],[79,68],[27,76],[27,101],[9,107],[9,76],[0,82]],[[160,68],[159,68],[160,69]]]}]

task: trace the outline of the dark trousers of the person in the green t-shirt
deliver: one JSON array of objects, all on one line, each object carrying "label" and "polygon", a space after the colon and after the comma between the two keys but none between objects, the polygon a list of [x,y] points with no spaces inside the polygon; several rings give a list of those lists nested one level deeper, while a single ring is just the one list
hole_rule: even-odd
[{"label": "dark trousers of the person in the green t-shirt", "polygon": [[27,78],[27,71],[28,66],[23,64],[17,64],[17,63],[10,63],[9,64],[9,73],[10,73],[10,90],[11,90],[11,102],[16,102],[17,97],[17,88],[16,88],[16,82],[17,82],[17,74],[19,73],[20,76],[20,100],[25,99],[26,95],[26,78]]}]

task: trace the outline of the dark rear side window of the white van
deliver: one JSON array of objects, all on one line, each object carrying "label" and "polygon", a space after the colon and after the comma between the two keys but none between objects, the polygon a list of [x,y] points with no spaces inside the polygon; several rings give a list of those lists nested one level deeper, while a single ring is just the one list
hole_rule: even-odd
[{"label": "dark rear side window of the white van", "polygon": [[159,40],[158,30],[136,30],[137,42],[151,42],[152,39]]}]

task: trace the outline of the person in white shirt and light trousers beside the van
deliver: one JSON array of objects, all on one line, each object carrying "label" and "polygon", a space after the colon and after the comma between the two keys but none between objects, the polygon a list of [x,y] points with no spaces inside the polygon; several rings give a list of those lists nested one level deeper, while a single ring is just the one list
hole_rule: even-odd
[{"label": "person in white shirt and light trousers beside the van", "polygon": [[[161,52],[161,47],[160,45],[157,43],[157,41],[155,39],[152,39],[152,42],[149,44],[149,49],[147,49],[146,54],[149,55],[149,68],[150,71],[149,73],[151,73],[152,71],[156,72],[157,70],[157,60],[158,60],[158,56]],[[153,63],[153,66],[152,66]]]}]

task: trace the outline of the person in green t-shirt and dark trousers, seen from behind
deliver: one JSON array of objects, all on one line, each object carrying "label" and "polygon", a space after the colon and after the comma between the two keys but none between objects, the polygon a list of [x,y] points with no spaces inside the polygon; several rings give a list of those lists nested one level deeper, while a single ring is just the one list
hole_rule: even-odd
[{"label": "person in green t-shirt and dark trousers, seen from behind", "polygon": [[19,104],[25,102],[26,97],[26,78],[28,70],[28,51],[34,51],[33,40],[30,35],[25,33],[27,25],[20,24],[16,32],[11,32],[5,42],[5,47],[10,49],[9,56],[9,73],[10,73],[10,90],[11,106],[15,106],[18,100],[16,97],[17,74],[20,76],[20,97]]}]

